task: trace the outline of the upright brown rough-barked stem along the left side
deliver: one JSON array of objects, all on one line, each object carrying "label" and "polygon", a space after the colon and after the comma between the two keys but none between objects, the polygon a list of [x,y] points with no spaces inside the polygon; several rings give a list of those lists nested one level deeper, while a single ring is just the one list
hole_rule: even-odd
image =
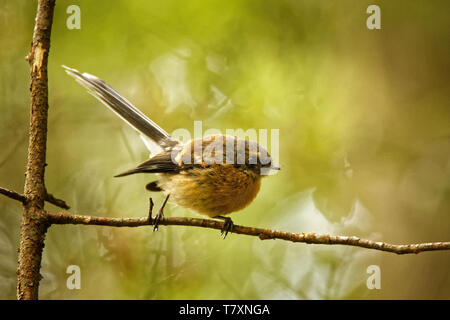
[{"label": "upright brown rough-barked stem along the left side", "polygon": [[41,276],[42,249],[48,223],[44,209],[44,184],[48,78],[47,60],[55,0],[39,0],[31,52],[27,57],[31,69],[31,113],[28,165],[20,226],[20,248],[17,269],[17,298],[37,299]]}]

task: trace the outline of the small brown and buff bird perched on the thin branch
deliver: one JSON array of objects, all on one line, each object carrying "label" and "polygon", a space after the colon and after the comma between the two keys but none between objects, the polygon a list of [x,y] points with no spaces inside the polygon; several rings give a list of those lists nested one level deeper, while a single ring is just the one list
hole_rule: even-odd
[{"label": "small brown and buff bird perched on the thin branch", "polygon": [[[156,143],[159,151],[136,168],[116,175],[155,173],[159,179],[146,185],[148,191],[164,192],[166,198],[155,216],[154,231],[164,218],[167,200],[211,218],[224,220],[221,235],[233,229],[225,217],[248,206],[258,194],[261,178],[280,170],[267,151],[253,141],[229,135],[212,135],[182,143],[146,117],[103,80],[62,66],[89,93],[122,120]],[[146,140],[144,140],[145,142]]]}]

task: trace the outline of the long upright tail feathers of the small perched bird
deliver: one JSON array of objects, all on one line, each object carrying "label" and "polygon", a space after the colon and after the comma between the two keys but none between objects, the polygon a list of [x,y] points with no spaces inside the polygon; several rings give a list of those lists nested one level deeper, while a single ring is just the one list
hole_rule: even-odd
[{"label": "long upright tail feathers of the small perched bird", "polygon": [[139,109],[122,97],[116,90],[107,85],[103,80],[89,74],[80,73],[76,69],[62,66],[68,75],[73,77],[95,98],[122,118],[126,123],[138,132],[149,137],[163,148],[177,144],[170,135],[156,123],[146,117]]}]

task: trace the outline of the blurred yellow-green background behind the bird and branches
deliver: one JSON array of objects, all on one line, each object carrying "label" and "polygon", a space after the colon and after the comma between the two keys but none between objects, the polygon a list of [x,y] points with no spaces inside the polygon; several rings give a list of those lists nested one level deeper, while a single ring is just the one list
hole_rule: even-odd
[{"label": "blurred yellow-green background behind the bird and branches", "polygon": [[[81,29],[66,27],[69,5]],[[381,30],[366,8],[381,8]],[[73,213],[145,216],[138,135],[62,64],[105,79],[172,132],[280,129],[282,170],[241,225],[391,243],[450,240],[448,1],[59,1],[46,184]],[[0,185],[22,190],[36,1],[0,0]],[[162,196],[152,195],[157,205]],[[58,210],[48,205],[49,210]],[[21,207],[0,197],[0,298],[14,299]],[[169,216],[197,214],[169,206]],[[369,265],[381,289],[366,287]],[[66,268],[81,269],[81,289]],[[443,299],[449,252],[397,256],[214,230],[52,226],[41,299]]]}]

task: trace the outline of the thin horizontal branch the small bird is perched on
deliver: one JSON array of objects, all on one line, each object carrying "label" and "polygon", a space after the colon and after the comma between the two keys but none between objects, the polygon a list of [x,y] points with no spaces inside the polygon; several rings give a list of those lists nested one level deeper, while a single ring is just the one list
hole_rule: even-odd
[{"label": "thin horizontal branch the small bird is perched on", "polygon": [[[149,215],[150,217],[150,215]],[[49,222],[52,224],[83,224],[99,225],[110,227],[140,227],[153,225],[149,217],[143,218],[105,218],[85,215],[74,215],[69,212],[48,213]],[[221,230],[223,222],[210,219],[173,217],[164,218],[159,225],[177,225],[192,226],[209,229]],[[292,242],[303,242],[308,244],[327,244],[327,245],[348,245],[363,247],[367,249],[392,252],[397,254],[419,253],[422,251],[450,250],[450,242],[430,242],[396,245],[385,242],[376,242],[358,237],[332,236],[328,234],[315,233],[291,233],[270,229],[261,229],[234,225],[231,233],[245,234],[259,237],[261,240],[280,239]]]}]

